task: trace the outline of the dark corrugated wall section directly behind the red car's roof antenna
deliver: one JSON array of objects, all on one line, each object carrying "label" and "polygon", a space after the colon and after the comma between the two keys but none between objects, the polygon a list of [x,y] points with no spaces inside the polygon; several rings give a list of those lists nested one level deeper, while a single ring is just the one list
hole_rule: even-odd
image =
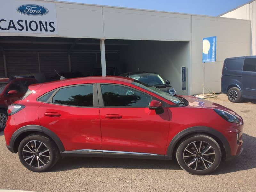
[{"label": "dark corrugated wall section directly behind the red car's roof antenna", "polygon": [[[56,75],[56,72],[69,71],[68,53],[39,53],[41,73],[46,80]],[[38,65],[38,64],[37,64]]]}]

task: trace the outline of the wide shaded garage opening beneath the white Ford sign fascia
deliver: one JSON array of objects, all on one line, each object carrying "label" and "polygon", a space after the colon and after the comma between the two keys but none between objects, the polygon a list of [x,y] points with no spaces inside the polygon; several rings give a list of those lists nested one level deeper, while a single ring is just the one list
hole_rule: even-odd
[{"label": "wide shaded garage opening beneath the white Ford sign fascia", "polygon": [[[104,52],[105,49],[105,52]],[[54,37],[0,37],[0,77],[44,74],[51,81],[59,73],[77,72],[81,76],[104,74],[101,52],[105,53],[106,74],[156,72],[181,91],[181,66],[186,67],[186,90],[190,60],[189,42],[144,41]],[[65,73],[64,73],[65,74]]]}]

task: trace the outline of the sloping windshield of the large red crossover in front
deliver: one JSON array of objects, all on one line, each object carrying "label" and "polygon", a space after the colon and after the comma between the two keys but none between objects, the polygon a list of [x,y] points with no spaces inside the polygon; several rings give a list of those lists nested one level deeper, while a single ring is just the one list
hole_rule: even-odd
[{"label": "sloping windshield of the large red crossover in front", "polygon": [[164,91],[162,91],[160,89],[157,89],[156,87],[152,87],[152,86],[150,86],[148,84],[145,84],[145,83],[142,83],[140,81],[134,80],[132,82],[132,84],[134,84],[134,85],[136,85],[138,87],[141,87],[143,89],[146,89],[146,90],[148,90],[148,91],[150,91],[152,93],[155,93],[155,94],[163,97],[164,99],[172,101],[175,104],[179,104],[181,102],[177,97],[174,97],[173,95],[170,95],[170,94],[168,94],[168,93],[166,93],[166,92],[164,92]]}]

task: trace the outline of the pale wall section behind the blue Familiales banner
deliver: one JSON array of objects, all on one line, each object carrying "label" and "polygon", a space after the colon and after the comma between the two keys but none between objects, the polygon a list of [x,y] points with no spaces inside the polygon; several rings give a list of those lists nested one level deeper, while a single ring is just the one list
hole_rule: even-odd
[{"label": "pale wall section behind the blue Familiales banner", "polygon": [[192,94],[203,92],[203,38],[217,36],[216,62],[205,63],[205,87],[221,92],[225,58],[250,55],[250,21],[192,15]]}]

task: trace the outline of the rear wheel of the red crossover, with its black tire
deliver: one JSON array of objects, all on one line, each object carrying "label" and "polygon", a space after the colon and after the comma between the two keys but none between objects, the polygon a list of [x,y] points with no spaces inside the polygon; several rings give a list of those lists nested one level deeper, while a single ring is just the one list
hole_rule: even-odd
[{"label": "rear wheel of the red crossover, with its black tire", "polygon": [[[33,147],[34,141],[36,141],[37,151],[41,152],[41,154],[40,153],[33,154],[31,152],[31,151],[35,150],[35,145]],[[41,146],[40,146],[41,142],[43,144],[41,144]],[[26,144],[27,144],[27,146],[26,146]],[[29,150],[29,148],[27,148],[28,146],[31,150]],[[49,151],[47,151],[47,148]],[[23,149],[25,149],[25,151],[29,151],[29,153],[24,152]],[[42,150],[42,151],[40,151],[40,150]],[[46,152],[44,152],[44,151],[46,151]],[[46,172],[46,171],[50,170],[53,167],[53,165],[55,165],[60,158],[60,152],[59,152],[59,149],[56,146],[56,144],[51,139],[49,139],[48,137],[46,137],[45,135],[40,134],[40,133],[31,134],[31,135],[28,135],[27,137],[25,137],[20,142],[20,145],[18,148],[18,154],[19,154],[20,162],[27,169],[29,169],[30,171],[33,171],[33,172]],[[44,154],[44,156],[43,156],[43,154]],[[23,155],[25,157],[23,157]],[[31,163],[32,165],[29,165],[29,163],[31,162],[30,159],[27,161],[24,159],[24,158],[28,158],[29,156],[31,156],[32,160],[34,160]],[[47,157],[47,156],[49,156],[49,157]],[[39,166],[38,166],[38,162],[39,162]]]}]

